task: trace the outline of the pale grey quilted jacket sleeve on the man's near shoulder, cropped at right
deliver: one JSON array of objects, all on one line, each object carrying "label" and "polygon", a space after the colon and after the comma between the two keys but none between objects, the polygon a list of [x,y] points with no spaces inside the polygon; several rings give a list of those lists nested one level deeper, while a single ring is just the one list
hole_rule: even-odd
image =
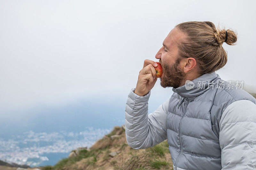
[{"label": "pale grey quilted jacket sleeve on the man's near shoulder, cropped at right", "polygon": [[256,169],[256,105],[238,100],[220,118],[222,170]]}]

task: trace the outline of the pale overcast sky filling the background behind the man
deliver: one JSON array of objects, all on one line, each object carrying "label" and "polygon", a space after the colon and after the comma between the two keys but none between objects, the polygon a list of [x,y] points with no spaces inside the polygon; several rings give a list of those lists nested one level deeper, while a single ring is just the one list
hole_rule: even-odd
[{"label": "pale overcast sky filling the background behind the man", "polygon": [[[212,21],[238,33],[224,80],[255,85],[255,1],[0,1],[1,114],[80,99],[125,102],[171,29]],[[150,101],[172,94],[157,80]],[[109,99],[110,98],[110,99]],[[155,108],[156,109],[156,108]],[[124,113],[123,113],[124,114]]]}]

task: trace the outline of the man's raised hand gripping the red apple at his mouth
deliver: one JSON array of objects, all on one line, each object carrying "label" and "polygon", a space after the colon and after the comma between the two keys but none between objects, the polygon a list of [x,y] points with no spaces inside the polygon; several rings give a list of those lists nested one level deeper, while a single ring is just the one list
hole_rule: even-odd
[{"label": "man's raised hand gripping the red apple at his mouth", "polygon": [[156,62],[152,60],[145,60],[143,69],[139,72],[138,82],[134,93],[139,96],[146,95],[156,84]]}]

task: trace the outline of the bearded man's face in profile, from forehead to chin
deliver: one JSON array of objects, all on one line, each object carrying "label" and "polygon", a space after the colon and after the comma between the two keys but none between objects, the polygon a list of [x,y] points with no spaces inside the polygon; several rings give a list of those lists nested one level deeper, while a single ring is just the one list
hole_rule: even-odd
[{"label": "bearded man's face in profile, from forehead to chin", "polygon": [[178,56],[178,44],[182,38],[184,38],[184,34],[177,28],[173,28],[164,39],[163,47],[156,54],[156,59],[159,59],[159,63],[163,67],[160,85],[164,88],[178,88],[185,80],[186,74],[181,68]]}]

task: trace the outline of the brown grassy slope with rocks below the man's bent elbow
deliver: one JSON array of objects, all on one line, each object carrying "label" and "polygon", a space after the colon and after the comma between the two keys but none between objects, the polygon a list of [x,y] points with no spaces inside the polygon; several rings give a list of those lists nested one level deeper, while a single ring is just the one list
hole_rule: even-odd
[{"label": "brown grassy slope with rocks below the man's bent elbow", "polygon": [[69,158],[60,160],[55,166],[41,166],[42,170],[143,170],[172,169],[172,159],[167,140],[152,148],[135,150],[128,146],[124,125],[98,140],[91,148],[77,148]]}]

